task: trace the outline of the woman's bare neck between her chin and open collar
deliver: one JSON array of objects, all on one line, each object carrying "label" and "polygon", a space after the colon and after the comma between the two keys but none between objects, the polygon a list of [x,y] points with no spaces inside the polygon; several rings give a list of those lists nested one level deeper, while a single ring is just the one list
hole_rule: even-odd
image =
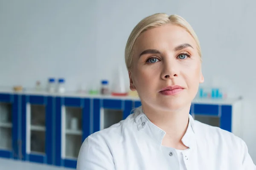
[{"label": "woman's bare neck between her chin and open collar", "polygon": [[145,104],[142,105],[142,109],[154,125],[166,132],[162,145],[186,149],[181,139],[189,124],[190,104],[178,111],[158,110]]}]

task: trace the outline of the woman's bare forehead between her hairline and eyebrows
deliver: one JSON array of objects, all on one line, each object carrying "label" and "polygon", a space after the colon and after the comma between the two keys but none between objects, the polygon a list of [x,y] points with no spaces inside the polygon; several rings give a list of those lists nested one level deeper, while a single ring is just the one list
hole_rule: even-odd
[{"label": "woman's bare forehead between her hairline and eyebrows", "polygon": [[189,43],[196,49],[193,37],[180,26],[167,24],[149,29],[141,34],[135,44],[135,54],[145,49],[173,50],[177,45]]}]

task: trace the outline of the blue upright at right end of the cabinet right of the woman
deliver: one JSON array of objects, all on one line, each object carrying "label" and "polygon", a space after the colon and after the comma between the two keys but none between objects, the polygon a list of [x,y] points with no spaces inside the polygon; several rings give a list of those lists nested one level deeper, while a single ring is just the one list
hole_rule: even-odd
[{"label": "blue upright at right end of the cabinet right of the woman", "polygon": [[231,105],[222,105],[221,106],[221,120],[220,127],[221,129],[231,132],[232,130],[232,106]]}]

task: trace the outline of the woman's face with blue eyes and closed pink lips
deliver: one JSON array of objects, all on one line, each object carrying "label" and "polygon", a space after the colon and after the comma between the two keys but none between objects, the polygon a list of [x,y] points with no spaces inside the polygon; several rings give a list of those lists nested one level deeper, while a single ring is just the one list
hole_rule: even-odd
[{"label": "woman's face with blue eyes and closed pink lips", "polygon": [[145,31],[134,48],[130,89],[137,90],[142,105],[166,111],[190,105],[204,82],[192,36],[168,24]]}]

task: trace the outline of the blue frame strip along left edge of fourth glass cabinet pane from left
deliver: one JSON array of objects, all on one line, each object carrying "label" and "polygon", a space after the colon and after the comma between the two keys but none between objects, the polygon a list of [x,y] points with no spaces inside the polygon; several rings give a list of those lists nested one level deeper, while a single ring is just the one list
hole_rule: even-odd
[{"label": "blue frame strip along left edge of fourth glass cabinet pane from left", "polygon": [[100,130],[100,99],[93,99],[93,132]]}]

